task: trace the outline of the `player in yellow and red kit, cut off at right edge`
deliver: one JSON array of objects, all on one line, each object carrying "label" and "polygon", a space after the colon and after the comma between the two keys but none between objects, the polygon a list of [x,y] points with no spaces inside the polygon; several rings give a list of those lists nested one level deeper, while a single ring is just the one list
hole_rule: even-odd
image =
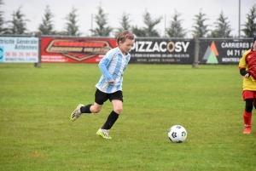
[{"label": "player in yellow and red kit, cut off at right edge", "polygon": [[250,134],[253,106],[256,109],[256,35],[253,37],[253,48],[242,54],[239,69],[241,76],[244,77],[242,97],[246,103],[245,111],[243,112],[243,134]]}]

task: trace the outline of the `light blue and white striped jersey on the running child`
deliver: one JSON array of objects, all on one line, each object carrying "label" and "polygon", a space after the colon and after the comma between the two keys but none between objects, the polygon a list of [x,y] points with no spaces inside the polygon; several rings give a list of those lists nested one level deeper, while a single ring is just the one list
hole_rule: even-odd
[{"label": "light blue and white striped jersey on the running child", "polygon": [[[96,88],[107,94],[122,90],[124,71],[130,58],[131,54],[124,56],[118,47],[109,50],[99,63],[102,77]],[[112,79],[115,83],[108,83]]]}]

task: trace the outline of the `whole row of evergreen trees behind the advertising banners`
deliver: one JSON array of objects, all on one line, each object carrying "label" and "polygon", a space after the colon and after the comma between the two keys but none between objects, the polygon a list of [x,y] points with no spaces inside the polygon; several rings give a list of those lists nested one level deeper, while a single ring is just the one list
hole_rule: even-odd
[{"label": "whole row of evergreen trees behind the advertising banners", "polygon": [[[0,5],[3,5],[3,0],[0,0]],[[129,14],[123,14],[119,20],[119,28],[112,28],[108,26],[108,14],[105,14],[101,5],[97,7],[98,12],[94,16],[96,21],[96,28],[91,29],[93,37],[109,37],[111,32],[118,34],[121,31],[132,31],[137,37],[161,37],[160,32],[155,29],[155,26],[160,24],[163,19],[161,16],[153,19],[146,10],[143,14],[144,27],[139,28],[137,26],[131,26],[131,20],[129,20]],[[55,31],[53,22],[54,14],[46,7],[44,11],[44,17],[42,23],[38,26],[38,31],[41,31],[43,35],[61,35],[61,36],[81,36],[79,31],[76,14],[77,9],[72,8],[71,12],[67,14],[65,20],[65,29],[63,31]],[[13,14],[13,20],[5,21],[3,19],[3,11],[0,11],[0,34],[31,34],[26,29],[25,14],[22,14],[21,7],[17,9]],[[175,10],[175,14],[172,16],[172,20],[169,22],[169,26],[166,28],[166,34],[164,37],[186,37],[188,32],[197,34],[199,37],[232,37],[230,31],[230,21],[224,16],[223,11],[220,12],[218,19],[213,23],[214,29],[209,30],[206,25],[207,14],[203,14],[200,10],[199,14],[195,14],[195,24],[192,26],[193,30],[189,31],[183,28],[180,16],[182,14]],[[8,27],[4,27],[5,24],[9,24]],[[253,37],[256,34],[256,4],[253,5],[247,14],[247,22],[244,23],[241,31],[244,32],[245,37]]]}]

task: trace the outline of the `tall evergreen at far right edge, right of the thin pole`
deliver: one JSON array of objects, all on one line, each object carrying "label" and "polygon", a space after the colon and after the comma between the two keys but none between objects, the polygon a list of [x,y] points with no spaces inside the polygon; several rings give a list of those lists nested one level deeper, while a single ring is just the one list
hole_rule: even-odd
[{"label": "tall evergreen at far right edge, right of the thin pole", "polygon": [[242,26],[244,26],[244,29],[241,31],[244,32],[245,37],[253,37],[256,34],[256,4],[250,9],[247,14],[247,22]]}]

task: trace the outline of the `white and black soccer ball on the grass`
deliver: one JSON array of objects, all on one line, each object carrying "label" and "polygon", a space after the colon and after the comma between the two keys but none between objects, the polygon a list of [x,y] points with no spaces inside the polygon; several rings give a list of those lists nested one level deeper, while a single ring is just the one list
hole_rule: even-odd
[{"label": "white and black soccer ball on the grass", "polygon": [[187,131],[181,125],[174,125],[169,129],[168,137],[172,142],[182,143],[187,138]]}]

